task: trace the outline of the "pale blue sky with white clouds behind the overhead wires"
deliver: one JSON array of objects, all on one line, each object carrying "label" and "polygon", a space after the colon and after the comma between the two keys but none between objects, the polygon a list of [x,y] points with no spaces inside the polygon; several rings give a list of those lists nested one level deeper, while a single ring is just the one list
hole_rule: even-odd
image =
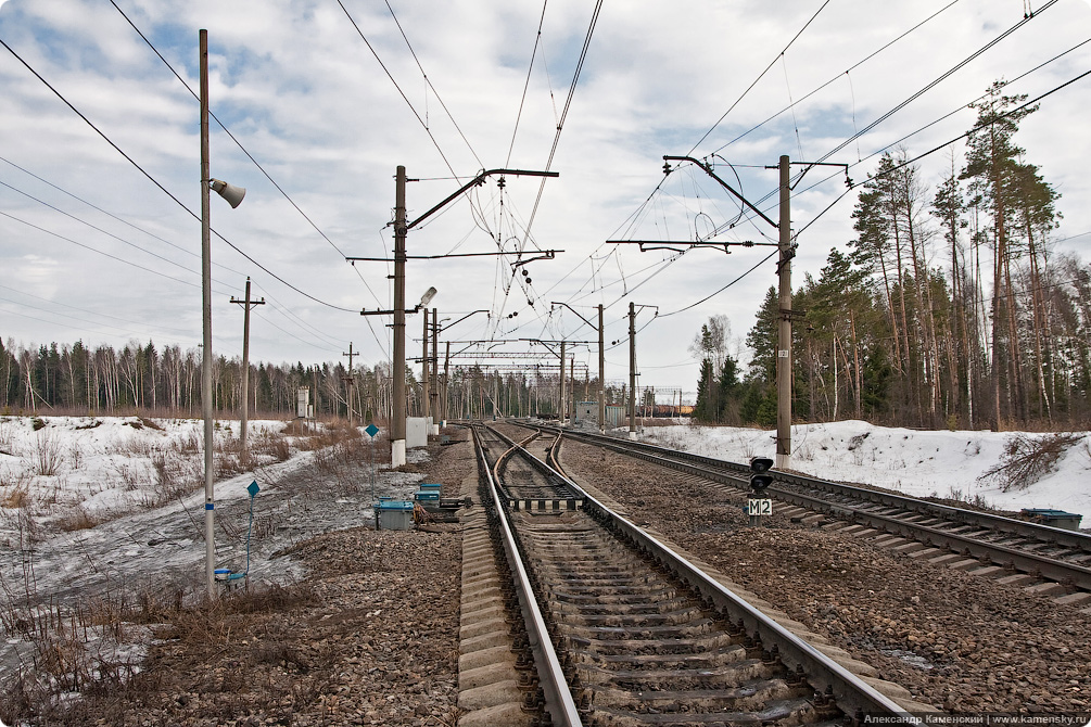
[{"label": "pale blue sky with white clouds behind the overhead wires", "polygon": [[[849,163],[860,181],[892,145],[912,157],[961,135],[975,119],[967,105],[995,80],[1034,98],[1091,70],[1091,43],[1070,50],[1091,39],[1084,0],[607,0],[597,15],[594,0],[0,1],[5,341],[200,342],[200,28],[223,123],[212,175],[248,189],[238,209],[213,198],[217,353],[241,353],[230,299],[250,276],[266,302],[252,360],[347,362],[350,342],[358,364],[387,360],[389,320],[359,312],[392,306],[392,266],[345,258],[389,256],[396,167],[416,180],[410,219],[482,169],[549,167],[560,177],[544,184],[490,178],[410,231],[407,247],[553,259],[514,270],[514,255],[411,259],[407,301],[434,286],[446,325],[488,310],[443,340],[515,341],[490,344],[494,354],[541,350],[520,338],[596,338],[570,310],[551,312],[555,301],[591,320],[603,304],[608,346],[623,341],[634,302],[642,384],[687,392],[690,342],[719,314],[745,336],[776,283],[774,260],[758,265],[772,249],[607,241],[684,250],[736,218],[714,240],[770,242],[776,230],[740,218],[693,166],[664,178],[663,155],[712,159],[776,219],[766,166],[782,154]],[[1048,96],[1018,136],[1063,195],[1058,249],[1084,258],[1089,94],[1091,76]],[[923,180],[934,187],[963,152],[921,159]],[[855,193],[844,192],[834,168],[795,187],[796,286],[852,239]],[[409,316],[410,336],[420,329]],[[577,347],[592,371],[596,355]],[[608,351],[608,379],[627,376],[627,355],[624,342]]]}]

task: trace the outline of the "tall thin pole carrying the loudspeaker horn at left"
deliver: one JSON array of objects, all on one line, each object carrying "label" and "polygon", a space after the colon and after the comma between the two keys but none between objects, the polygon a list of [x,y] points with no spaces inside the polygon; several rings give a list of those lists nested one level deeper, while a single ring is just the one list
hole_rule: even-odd
[{"label": "tall thin pole carrying the loudspeaker horn at left", "polygon": [[205,467],[205,580],[208,599],[216,597],[216,495],[213,482],[212,422],[212,235],[208,183],[208,31],[200,31],[201,56],[201,330],[204,350],[201,352],[201,415],[204,419]]}]

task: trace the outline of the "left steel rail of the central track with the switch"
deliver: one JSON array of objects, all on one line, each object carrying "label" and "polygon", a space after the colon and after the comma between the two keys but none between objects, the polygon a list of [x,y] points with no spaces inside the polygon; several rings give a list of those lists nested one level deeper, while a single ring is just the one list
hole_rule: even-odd
[{"label": "left steel rail of the central track with the switch", "polygon": [[[519,607],[523,610],[523,618],[527,628],[527,641],[535,656],[535,667],[538,673],[539,686],[546,695],[546,708],[549,711],[554,725],[559,727],[583,727],[583,719],[579,716],[579,711],[576,708],[576,702],[572,698],[568,682],[564,678],[564,670],[561,668],[561,659],[558,658],[556,651],[553,647],[553,640],[546,626],[546,619],[542,617],[541,609],[538,608],[538,602],[530,586],[530,579],[516,547],[515,535],[512,532],[507,508],[505,507],[506,499],[502,497],[500,487],[493,478],[492,471],[489,469],[489,461],[485,459],[484,450],[481,448],[477,428],[471,427],[471,431],[473,433],[473,444],[481,464],[481,471],[484,472],[489,494],[500,520],[501,542],[504,545],[504,554],[512,570],[512,581],[519,598]],[[505,452],[504,456],[508,452]]]}]

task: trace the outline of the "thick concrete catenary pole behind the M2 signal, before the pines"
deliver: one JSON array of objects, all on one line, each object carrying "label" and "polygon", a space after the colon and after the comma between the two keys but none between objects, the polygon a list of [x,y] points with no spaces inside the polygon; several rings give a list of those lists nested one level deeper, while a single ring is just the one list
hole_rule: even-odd
[{"label": "thick concrete catenary pole behind the M2 signal, before the pines", "polygon": [[792,216],[788,155],[780,157],[780,326],[777,346],[777,469],[792,465]]}]

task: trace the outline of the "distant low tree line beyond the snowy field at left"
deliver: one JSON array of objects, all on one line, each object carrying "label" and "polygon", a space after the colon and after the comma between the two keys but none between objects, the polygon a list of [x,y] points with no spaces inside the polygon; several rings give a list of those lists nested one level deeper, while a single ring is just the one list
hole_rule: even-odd
[{"label": "distant low tree line beyond the snowy field at left", "polygon": [[[169,416],[201,415],[200,349],[157,348],[132,341],[121,348],[89,348],[82,341],[24,348],[0,341],[0,410],[12,413],[109,415],[141,412]],[[444,367],[441,365],[441,369]],[[406,412],[423,415],[423,385],[419,372],[406,367]],[[242,399],[242,361],[213,358],[213,411],[236,415]],[[594,396],[597,379],[570,381],[568,400]],[[549,373],[502,374],[480,366],[456,365],[433,377],[432,398],[445,407],[448,419],[488,419],[493,415],[556,414],[560,380]],[[387,362],[343,364],[252,363],[249,404],[251,416],[277,419],[297,414],[297,392],[308,390],[314,416],[349,416],[385,423],[393,409],[393,377]],[[609,402],[626,401],[625,387],[609,387]],[[442,416],[443,409],[433,413]]]}]

